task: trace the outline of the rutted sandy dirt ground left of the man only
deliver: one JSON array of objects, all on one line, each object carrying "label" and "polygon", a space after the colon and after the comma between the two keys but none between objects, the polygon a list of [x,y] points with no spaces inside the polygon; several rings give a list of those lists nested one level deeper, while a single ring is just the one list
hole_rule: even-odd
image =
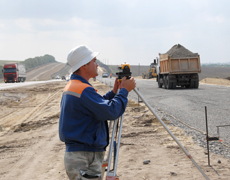
[{"label": "rutted sandy dirt ground left of the man only", "polygon": [[[58,139],[57,123],[63,83],[4,92],[0,113],[0,179],[50,179],[59,170],[56,166],[61,159],[57,158],[57,152],[64,145]],[[62,174],[59,179],[64,179]]]}]

